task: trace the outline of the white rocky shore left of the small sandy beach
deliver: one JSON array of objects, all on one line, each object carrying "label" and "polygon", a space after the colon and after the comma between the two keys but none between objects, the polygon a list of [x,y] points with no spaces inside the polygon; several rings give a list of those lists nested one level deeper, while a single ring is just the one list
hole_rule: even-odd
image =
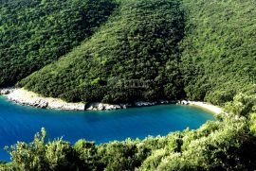
[{"label": "white rocky shore left of the small sandy beach", "polygon": [[[145,102],[137,101],[134,105],[131,104],[119,104],[111,105],[105,103],[68,103],[59,98],[44,97],[39,94],[29,92],[25,89],[3,89],[0,90],[1,94],[7,95],[9,101],[13,101],[20,105],[31,106],[35,108],[42,109],[54,109],[54,110],[64,110],[64,111],[110,111],[126,109],[132,106],[144,107],[144,106],[154,106],[156,104],[167,104],[170,101],[160,100],[159,102]],[[172,102],[174,103],[174,102]]]}]

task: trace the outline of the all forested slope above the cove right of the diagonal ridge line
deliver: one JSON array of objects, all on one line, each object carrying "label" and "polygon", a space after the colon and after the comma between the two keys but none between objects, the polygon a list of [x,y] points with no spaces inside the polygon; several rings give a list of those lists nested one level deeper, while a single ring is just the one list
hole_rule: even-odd
[{"label": "all forested slope above the cove right of the diagonal ridge line", "polygon": [[18,86],[108,103],[187,97],[223,105],[255,93],[254,1],[118,4],[92,38]]}]

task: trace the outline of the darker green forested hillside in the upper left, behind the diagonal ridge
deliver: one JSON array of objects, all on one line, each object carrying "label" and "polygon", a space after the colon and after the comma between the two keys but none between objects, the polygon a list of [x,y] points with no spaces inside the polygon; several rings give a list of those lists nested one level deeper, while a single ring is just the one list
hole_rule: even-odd
[{"label": "darker green forested hillside in the upper left, behind the diagonal ridge", "polygon": [[111,0],[0,2],[0,87],[12,86],[58,60],[116,8]]}]

